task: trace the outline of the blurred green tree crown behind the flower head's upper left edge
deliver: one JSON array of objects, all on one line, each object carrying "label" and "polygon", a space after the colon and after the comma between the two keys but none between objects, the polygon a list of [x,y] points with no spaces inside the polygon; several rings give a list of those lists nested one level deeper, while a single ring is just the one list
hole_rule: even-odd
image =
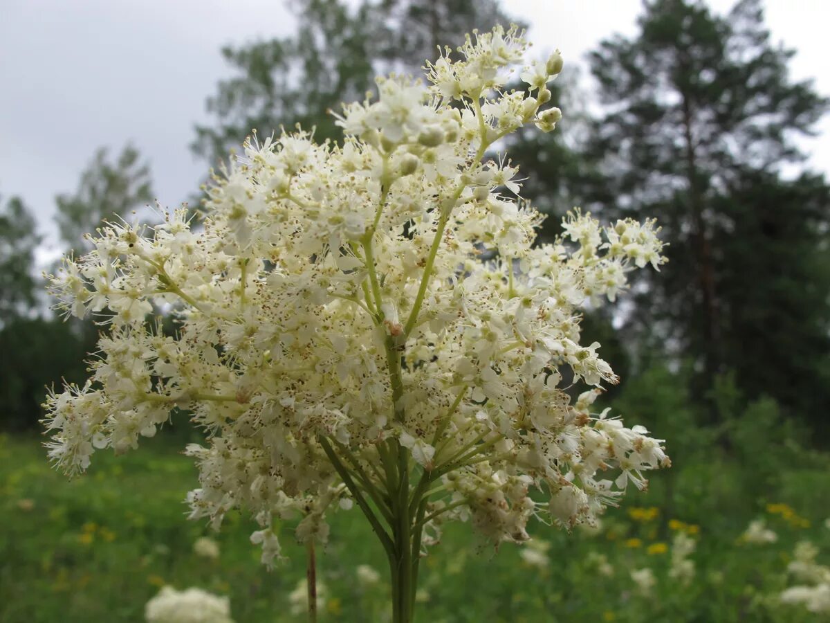
[{"label": "blurred green tree crown behind the flower head's upper left edge", "polygon": [[211,125],[197,126],[193,151],[223,161],[251,130],[261,137],[282,126],[315,128],[315,139],[339,140],[329,110],[376,91],[378,71],[420,73],[438,44],[461,44],[461,33],[510,20],[494,0],[295,0],[294,37],[222,48],[236,75],[208,98]]}]

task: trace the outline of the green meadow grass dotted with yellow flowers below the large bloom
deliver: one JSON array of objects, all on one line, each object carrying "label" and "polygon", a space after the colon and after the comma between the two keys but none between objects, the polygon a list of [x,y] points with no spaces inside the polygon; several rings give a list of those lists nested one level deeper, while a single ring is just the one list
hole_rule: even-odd
[{"label": "green meadow grass dotted with yellow flowers below the large bloom", "polygon": [[[218,534],[188,521],[183,498],[196,473],[178,446],[155,439],[124,457],[100,452],[89,473],[70,481],[50,468],[40,439],[0,436],[0,621],[143,621],[144,603],[163,584],[230,596],[237,623],[303,621],[289,601],[305,575],[291,527],[281,537],[288,560],[269,572],[248,541],[255,527],[246,517],[232,516]],[[632,491],[608,513],[599,532],[568,535],[536,523],[531,534],[549,542],[544,567],[524,562],[519,547],[482,546],[468,525],[447,527],[422,564],[419,621],[815,621],[774,596],[787,586],[796,542],[815,542],[828,559],[827,469],[793,466],[752,488],[752,474],[716,456],[676,459],[671,472],[654,475],[651,492]],[[792,510],[769,513],[768,503]],[[778,542],[738,542],[757,517]],[[668,576],[678,529],[694,532],[697,543],[688,586]],[[218,561],[193,553],[203,535],[220,543]],[[612,575],[598,571],[598,555]],[[387,620],[382,551],[357,510],[333,518],[318,564],[328,589],[321,621]],[[360,586],[360,564],[381,572],[378,586]],[[651,595],[630,576],[643,567],[657,580]]]}]

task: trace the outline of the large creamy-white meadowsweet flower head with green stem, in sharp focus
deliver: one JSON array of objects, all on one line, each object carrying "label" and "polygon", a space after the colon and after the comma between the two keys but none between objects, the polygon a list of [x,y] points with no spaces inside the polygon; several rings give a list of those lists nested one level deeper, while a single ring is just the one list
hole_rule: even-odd
[{"label": "large creamy-white meadowsweet flower head with green stem, in sharp focus", "polygon": [[[496,27],[427,64],[426,86],[378,79],[377,101],[337,115],[342,145],[248,140],[198,224],[178,210],[101,228],[51,277],[67,314],[109,310],[92,378],[47,400],[51,459],[76,473],[187,414],[208,434],[186,450],[192,518],[218,527],[247,509],[271,564],[277,518],[311,544],[354,503],[401,622],[442,522],[525,542],[531,518],[590,524],[629,483],[645,488],[668,464],[662,442],[593,413],[617,377],[580,344],[579,308],[659,267],[662,243],[651,221],[574,211],[534,244],[540,213],[510,160],[488,156],[561,117],[546,86],[561,56],[522,67],[527,47]],[[516,77],[527,88],[506,91]],[[152,314],[172,314],[175,334]]]}]

